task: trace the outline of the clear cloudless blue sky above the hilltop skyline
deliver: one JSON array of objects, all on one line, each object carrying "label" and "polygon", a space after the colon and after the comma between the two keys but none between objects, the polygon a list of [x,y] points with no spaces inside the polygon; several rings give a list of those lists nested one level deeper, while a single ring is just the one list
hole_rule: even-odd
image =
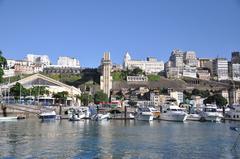
[{"label": "clear cloudless blue sky above the hilltop skyline", "polygon": [[122,63],[168,60],[174,48],[198,57],[227,57],[240,50],[240,0],[0,0],[0,50],[76,57],[98,66],[104,51]]}]

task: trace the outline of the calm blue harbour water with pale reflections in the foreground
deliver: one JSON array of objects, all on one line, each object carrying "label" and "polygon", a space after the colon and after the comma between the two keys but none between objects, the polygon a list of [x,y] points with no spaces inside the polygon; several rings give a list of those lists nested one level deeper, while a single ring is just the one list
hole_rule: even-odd
[{"label": "calm blue harbour water with pale reflections in the foreground", "polygon": [[0,158],[240,158],[230,125],[153,121],[0,122]]}]

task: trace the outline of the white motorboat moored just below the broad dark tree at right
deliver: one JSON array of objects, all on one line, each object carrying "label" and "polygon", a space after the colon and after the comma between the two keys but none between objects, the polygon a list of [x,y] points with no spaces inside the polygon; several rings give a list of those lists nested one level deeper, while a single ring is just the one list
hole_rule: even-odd
[{"label": "white motorboat moored just below the broad dark tree at right", "polygon": [[223,115],[220,112],[217,112],[217,106],[213,104],[207,104],[203,107],[200,115],[206,121],[220,122],[223,119]]}]

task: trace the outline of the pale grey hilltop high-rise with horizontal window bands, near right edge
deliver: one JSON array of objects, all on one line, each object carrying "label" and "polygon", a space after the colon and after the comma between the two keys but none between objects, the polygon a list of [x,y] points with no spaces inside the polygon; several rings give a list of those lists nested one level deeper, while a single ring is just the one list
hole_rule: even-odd
[{"label": "pale grey hilltop high-rise with horizontal window bands, near right edge", "polygon": [[218,81],[228,80],[228,61],[225,58],[216,58],[213,60],[213,74]]}]

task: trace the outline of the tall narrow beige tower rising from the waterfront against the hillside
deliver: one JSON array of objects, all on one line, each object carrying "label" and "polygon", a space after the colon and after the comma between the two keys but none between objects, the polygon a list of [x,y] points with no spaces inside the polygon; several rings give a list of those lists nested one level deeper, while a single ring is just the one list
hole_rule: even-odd
[{"label": "tall narrow beige tower rising from the waterfront against the hillside", "polygon": [[110,59],[110,53],[105,52],[101,61],[102,76],[100,77],[100,88],[104,93],[110,97],[110,90],[112,89],[112,61]]}]

